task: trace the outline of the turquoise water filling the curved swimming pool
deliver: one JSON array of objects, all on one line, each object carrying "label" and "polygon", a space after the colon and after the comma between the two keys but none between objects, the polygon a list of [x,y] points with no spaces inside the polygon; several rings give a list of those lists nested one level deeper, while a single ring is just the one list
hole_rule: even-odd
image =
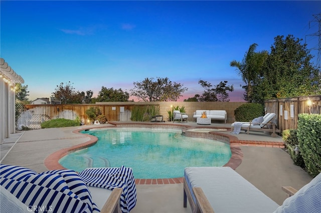
[{"label": "turquoise water filling the curved swimming pool", "polygon": [[184,176],[188,166],[222,166],[231,158],[229,144],[182,135],[181,129],[112,128],[83,131],[96,144],[59,160],[66,168],[131,167],[135,178]]}]

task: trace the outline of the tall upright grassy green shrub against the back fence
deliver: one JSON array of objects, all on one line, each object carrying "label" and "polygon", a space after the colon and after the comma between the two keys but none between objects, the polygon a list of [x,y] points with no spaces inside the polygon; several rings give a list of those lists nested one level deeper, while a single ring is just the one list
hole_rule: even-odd
[{"label": "tall upright grassy green shrub against the back fence", "polygon": [[159,108],[155,105],[135,105],[131,110],[130,120],[150,121],[152,116],[159,114]]}]

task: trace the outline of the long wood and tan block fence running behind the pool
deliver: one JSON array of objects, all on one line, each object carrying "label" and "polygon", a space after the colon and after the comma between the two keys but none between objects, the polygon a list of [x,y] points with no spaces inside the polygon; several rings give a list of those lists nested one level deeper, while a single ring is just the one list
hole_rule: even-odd
[{"label": "long wood and tan block fence running behind the pool", "polygon": [[[163,119],[167,120],[168,111],[173,107],[184,106],[189,116],[189,121],[193,121],[193,113],[197,109],[223,109],[227,111],[227,122],[234,122],[234,110],[245,102],[184,102],[184,101],[161,101],[161,102],[96,102],[96,104],[27,104],[25,111],[18,119],[18,126],[40,125],[43,120],[35,120],[31,123],[31,117],[39,114],[37,117],[49,116],[51,119],[63,117],[75,119],[79,116],[85,124],[90,124],[87,118],[86,110],[90,107],[98,107],[108,121],[130,121],[131,111],[134,106],[144,107],[146,105],[155,106]],[[35,117],[35,116],[33,116]]]}]

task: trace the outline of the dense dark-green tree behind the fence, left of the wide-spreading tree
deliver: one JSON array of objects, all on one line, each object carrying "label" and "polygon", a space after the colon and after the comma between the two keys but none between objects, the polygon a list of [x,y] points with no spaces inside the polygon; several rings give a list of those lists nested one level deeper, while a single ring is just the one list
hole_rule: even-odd
[{"label": "dense dark-green tree behind the fence, left of the wide-spreading tree", "polygon": [[114,89],[106,88],[105,86],[101,87],[101,90],[98,92],[96,101],[98,102],[124,102],[128,101],[129,93],[123,91],[121,88]]}]

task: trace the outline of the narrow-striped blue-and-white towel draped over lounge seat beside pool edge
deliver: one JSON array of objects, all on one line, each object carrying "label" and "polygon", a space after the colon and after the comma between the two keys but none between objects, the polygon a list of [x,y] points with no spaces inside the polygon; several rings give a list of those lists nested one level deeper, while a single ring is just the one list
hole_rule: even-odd
[{"label": "narrow-striped blue-and-white towel draped over lounge seat beside pool edge", "polygon": [[88,186],[107,189],[123,189],[120,196],[120,209],[129,212],[136,205],[136,185],[132,169],[129,167],[87,168],[79,173]]}]

